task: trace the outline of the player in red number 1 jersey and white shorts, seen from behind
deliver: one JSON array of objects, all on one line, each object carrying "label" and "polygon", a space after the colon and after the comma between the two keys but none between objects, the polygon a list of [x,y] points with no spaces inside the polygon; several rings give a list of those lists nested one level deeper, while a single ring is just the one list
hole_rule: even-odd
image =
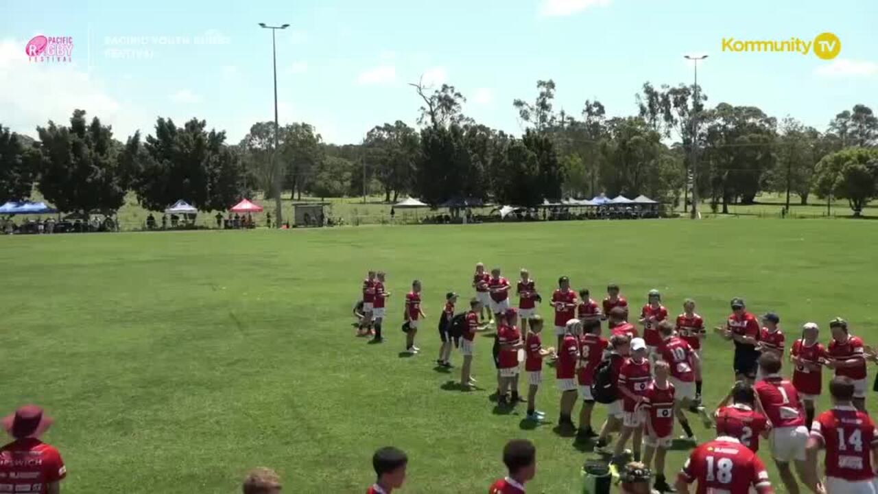
[{"label": "player in red number 1 jersey and white shorts, seen from behind", "polygon": [[795,461],[799,478],[805,475],[805,445],[808,442],[808,429],[805,427],[805,411],[799,402],[799,393],[793,383],[781,377],[781,358],[775,353],[766,352],[759,357],[762,381],[756,383],[756,396],[766,417],[771,422],[771,453],[774,464],[787,491],[799,493],[789,462]]}]

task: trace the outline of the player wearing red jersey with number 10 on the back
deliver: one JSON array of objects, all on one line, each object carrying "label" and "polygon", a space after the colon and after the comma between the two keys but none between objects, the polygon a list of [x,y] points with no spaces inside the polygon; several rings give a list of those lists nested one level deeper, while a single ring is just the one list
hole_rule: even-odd
[{"label": "player wearing red jersey with number 10 on the back", "polygon": [[[698,354],[680,337],[674,336],[673,324],[670,321],[659,323],[659,333],[662,336],[660,348],[661,358],[671,366],[671,383],[673,384],[674,399],[677,401],[677,420],[683,432],[686,432],[686,440],[697,444],[692,427],[686,418],[685,410],[690,409],[695,399],[695,374],[700,373],[701,360]],[[705,427],[712,427],[713,420],[702,406],[694,407],[695,413],[702,418]]]}]

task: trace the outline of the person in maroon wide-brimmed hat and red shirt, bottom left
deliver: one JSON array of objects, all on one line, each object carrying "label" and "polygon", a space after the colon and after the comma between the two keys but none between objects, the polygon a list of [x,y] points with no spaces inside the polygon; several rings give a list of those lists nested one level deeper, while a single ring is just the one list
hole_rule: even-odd
[{"label": "person in maroon wide-brimmed hat and red shirt, bottom left", "polygon": [[25,405],[3,419],[4,430],[15,440],[0,448],[0,492],[61,492],[67,468],[58,450],[40,440],[52,424],[36,405]]}]

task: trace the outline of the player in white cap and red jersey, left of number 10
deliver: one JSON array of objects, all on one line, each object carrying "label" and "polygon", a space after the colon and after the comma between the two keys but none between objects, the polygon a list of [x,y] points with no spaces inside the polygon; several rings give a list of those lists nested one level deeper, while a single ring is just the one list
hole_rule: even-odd
[{"label": "player in white cap and red jersey, left of number 10", "polygon": [[615,441],[613,450],[613,462],[619,467],[624,462],[623,449],[625,443],[631,440],[631,449],[634,451],[634,460],[640,461],[640,444],[644,434],[644,411],[640,409],[640,403],[644,401],[646,388],[652,381],[650,360],[647,358],[648,350],[644,338],[631,340],[631,357],[619,370],[617,381],[619,391],[623,396],[623,419],[622,433]]}]

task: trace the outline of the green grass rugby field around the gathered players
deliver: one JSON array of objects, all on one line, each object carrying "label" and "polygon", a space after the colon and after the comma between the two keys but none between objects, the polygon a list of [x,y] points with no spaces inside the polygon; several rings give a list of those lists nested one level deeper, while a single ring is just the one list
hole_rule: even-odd
[{"label": "green grass rugby field around the gathered players", "polygon": [[[635,306],[659,288],[673,314],[691,296],[710,326],[741,295],[756,313],[778,311],[788,339],[814,320],[827,341],[829,319],[845,316],[874,345],[876,243],[874,222],[745,219],[0,237],[0,403],[40,403],[56,418],[47,440],[74,494],[230,494],[259,465],[281,473],[284,491],[363,492],[386,444],[410,456],[402,492],[484,492],[511,438],[536,443],[529,491],[577,492],[593,454],[554,424],[523,428],[523,406],[494,410],[490,338],[477,342],[483,390],[453,389],[458,368],[434,369],[443,294],[469,295],[477,261],[510,278],[526,266],[543,293],[567,274],[595,294],[620,283]],[[392,292],[385,345],[349,326],[370,267],[388,272]],[[403,358],[414,278],[428,319],[421,355]],[[730,386],[730,354],[709,337],[707,403]],[[546,374],[538,407],[555,422]],[[669,474],[685,455],[673,452]]]}]

